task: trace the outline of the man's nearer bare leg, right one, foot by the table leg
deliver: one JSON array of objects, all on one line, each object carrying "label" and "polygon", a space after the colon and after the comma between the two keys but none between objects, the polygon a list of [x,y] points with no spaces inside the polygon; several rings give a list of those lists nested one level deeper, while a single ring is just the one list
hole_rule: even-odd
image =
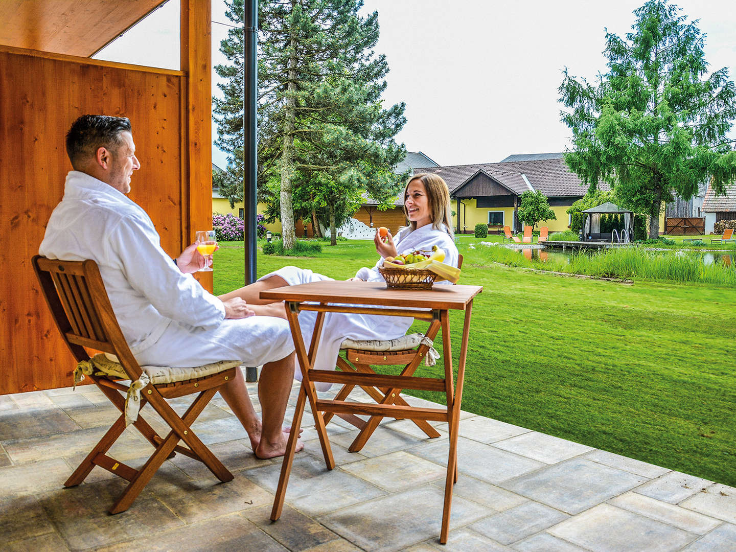
[{"label": "man's nearer bare leg, right one, foot by the table leg", "polygon": [[[253,450],[258,458],[274,458],[286,453],[288,436],[283,432],[283,417],[289,403],[291,385],[294,383],[294,354],[280,361],[263,365],[261,379],[258,381],[258,400],[261,403],[263,422],[261,442]],[[304,443],[297,441],[299,452]]]}]

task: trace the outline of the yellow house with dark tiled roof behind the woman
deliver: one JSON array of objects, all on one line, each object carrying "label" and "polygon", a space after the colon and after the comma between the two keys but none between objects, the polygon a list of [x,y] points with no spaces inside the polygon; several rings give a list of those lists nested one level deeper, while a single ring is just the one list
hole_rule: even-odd
[{"label": "yellow house with dark tiled roof behind the woman", "polygon": [[[548,198],[556,220],[542,222],[551,232],[566,230],[570,224],[567,209],[587,192],[576,174],[567,169],[562,153],[509,155],[499,163],[476,163],[439,167],[420,167],[417,172],[439,174],[456,202],[456,232],[472,233],[475,224],[488,224],[491,230],[509,226],[522,230],[518,219],[521,194],[541,191]],[[602,189],[607,189],[601,186]]]}]

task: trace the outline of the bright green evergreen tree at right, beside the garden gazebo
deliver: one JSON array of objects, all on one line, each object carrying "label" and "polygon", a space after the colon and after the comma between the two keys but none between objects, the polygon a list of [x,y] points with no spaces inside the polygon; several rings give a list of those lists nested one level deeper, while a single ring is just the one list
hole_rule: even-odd
[{"label": "bright green evergreen tree at right, beside the garden gazebo", "polygon": [[659,236],[662,202],[690,199],[710,180],[717,193],[736,178],[726,137],[736,117],[736,88],[722,68],[707,74],[704,35],[678,7],[651,0],[634,11],[633,32],[606,32],[608,71],[596,85],[563,71],[562,121],[573,130],[565,155],[593,190],[607,181],[623,206],[649,216]]}]

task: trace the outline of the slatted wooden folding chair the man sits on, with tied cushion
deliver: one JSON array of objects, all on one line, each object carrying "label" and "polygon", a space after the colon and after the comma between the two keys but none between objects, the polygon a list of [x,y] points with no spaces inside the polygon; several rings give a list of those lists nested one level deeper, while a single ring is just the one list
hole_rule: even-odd
[{"label": "slatted wooden folding chair the man sits on, with tied cushion", "polygon": [[[78,367],[84,366],[87,369],[89,377],[100,391],[121,412],[118,420],[82,464],[79,464],[64,486],[79,485],[95,466],[119,475],[130,481],[130,484],[109,510],[110,514],[118,514],[130,507],[163,461],[177,452],[201,461],[220,481],[232,480],[233,474],[202,444],[191,425],[213,395],[227,381],[236,377],[240,362],[225,361],[192,369],[141,368],[121,333],[105,291],[105,284],[94,261],[55,261],[36,255],[33,258],[33,267],[61,336],[79,362]],[[115,363],[116,369],[107,369],[113,363],[106,360],[105,355],[90,358],[84,347],[112,353],[117,356],[119,364]],[[192,375],[197,377],[192,378]],[[132,383],[124,385],[120,383],[121,379],[130,379]],[[158,383],[159,381],[166,383]],[[168,435],[161,437],[140,415],[132,422],[155,448],[139,470],[107,455],[107,450],[126,427],[127,401],[120,392],[129,393],[131,387],[134,387],[133,392],[136,387],[140,387],[140,407],[149,403],[171,428]],[[181,417],[166,402],[166,399],[194,393],[198,394],[197,397]],[[180,440],[188,446],[178,445]]]}]

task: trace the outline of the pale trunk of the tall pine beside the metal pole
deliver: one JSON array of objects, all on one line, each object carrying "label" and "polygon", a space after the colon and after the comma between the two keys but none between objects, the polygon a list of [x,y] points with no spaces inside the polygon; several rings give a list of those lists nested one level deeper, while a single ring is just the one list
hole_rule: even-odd
[{"label": "pale trunk of the tall pine beside the metal pole", "polygon": [[[292,2],[292,9],[294,2]],[[291,38],[291,54],[289,55],[289,82],[286,90],[286,113],[283,125],[283,153],[281,155],[281,238],[283,248],[291,250],[297,242],[294,233],[294,208],[291,205],[292,180],[294,179],[294,127],[297,119],[297,99],[294,97],[297,79],[297,40]]]}]

